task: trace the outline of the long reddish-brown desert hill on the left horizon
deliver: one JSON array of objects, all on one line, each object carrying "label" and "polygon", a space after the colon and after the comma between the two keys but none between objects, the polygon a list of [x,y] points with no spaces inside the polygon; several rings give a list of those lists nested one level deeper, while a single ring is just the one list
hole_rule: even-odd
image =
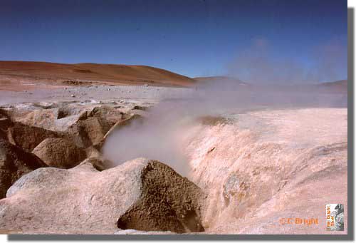
[{"label": "long reddish-brown desert hill on the left horizon", "polygon": [[26,81],[45,81],[50,85],[80,85],[96,81],[113,85],[147,83],[153,86],[190,86],[194,83],[194,79],[187,76],[150,66],[0,61],[0,83],[11,84],[11,81],[21,78]]}]

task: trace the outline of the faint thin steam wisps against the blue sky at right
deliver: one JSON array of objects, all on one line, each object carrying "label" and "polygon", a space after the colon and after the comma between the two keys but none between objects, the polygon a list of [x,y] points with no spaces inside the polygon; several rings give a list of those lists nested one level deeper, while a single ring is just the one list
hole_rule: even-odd
[{"label": "faint thin steam wisps against the blue sky at right", "polygon": [[[347,45],[342,38],[315,46],[305,53],[280,55],[278,47],[265,38],[236,53],[228,72],[248,83],[295,84],[337,81],[347,76]],[[290,49],[293,50],[291,44]],[[303,61],[298,56],[304,56]]]}]

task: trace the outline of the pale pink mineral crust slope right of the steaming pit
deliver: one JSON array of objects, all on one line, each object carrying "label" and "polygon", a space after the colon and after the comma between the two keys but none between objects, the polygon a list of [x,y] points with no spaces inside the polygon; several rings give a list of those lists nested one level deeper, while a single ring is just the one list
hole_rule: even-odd
[{"label": "pale pink mineral crust slope right of the steaming pit", "polygon": [[347,109],[263,110],[236,118],[195,125],[184,138],[189,179],[209,194],[206,232],[347,234],[347,217],[344,231],[325,229],[328,203],[344,204],[347,215]]}]

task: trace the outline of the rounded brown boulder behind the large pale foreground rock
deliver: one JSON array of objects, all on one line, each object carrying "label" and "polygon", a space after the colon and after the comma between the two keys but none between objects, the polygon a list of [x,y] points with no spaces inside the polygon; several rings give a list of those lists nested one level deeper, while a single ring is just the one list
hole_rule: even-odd
[{"label": "rounded brown boulder behind the large pale foreground rock", "polygon": [[75,167],[86,157],[85,150],[63,138],[46,138],[33,153],[47,165],[63,169]]}]

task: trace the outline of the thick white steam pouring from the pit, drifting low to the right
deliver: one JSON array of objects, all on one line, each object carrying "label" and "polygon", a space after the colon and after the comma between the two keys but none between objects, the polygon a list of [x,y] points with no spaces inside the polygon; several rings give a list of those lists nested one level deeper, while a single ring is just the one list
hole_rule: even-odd
[{"label": "thick white steam pouring from the pit, drifting low to the right", "polygon": [[310,87],[294,91],[244,86],[233,80],[206,83],[197,90],[187,88],[181,98],[162,100],[143,120],[133,120],[114,131],[105,142],[103,154],[115,165],[137,157],[159,160],[188,177],[190,168],[181,140],[199,117],[236,114],[251,108],[345,105],[346,99],[347,95],[317,93]]}]

